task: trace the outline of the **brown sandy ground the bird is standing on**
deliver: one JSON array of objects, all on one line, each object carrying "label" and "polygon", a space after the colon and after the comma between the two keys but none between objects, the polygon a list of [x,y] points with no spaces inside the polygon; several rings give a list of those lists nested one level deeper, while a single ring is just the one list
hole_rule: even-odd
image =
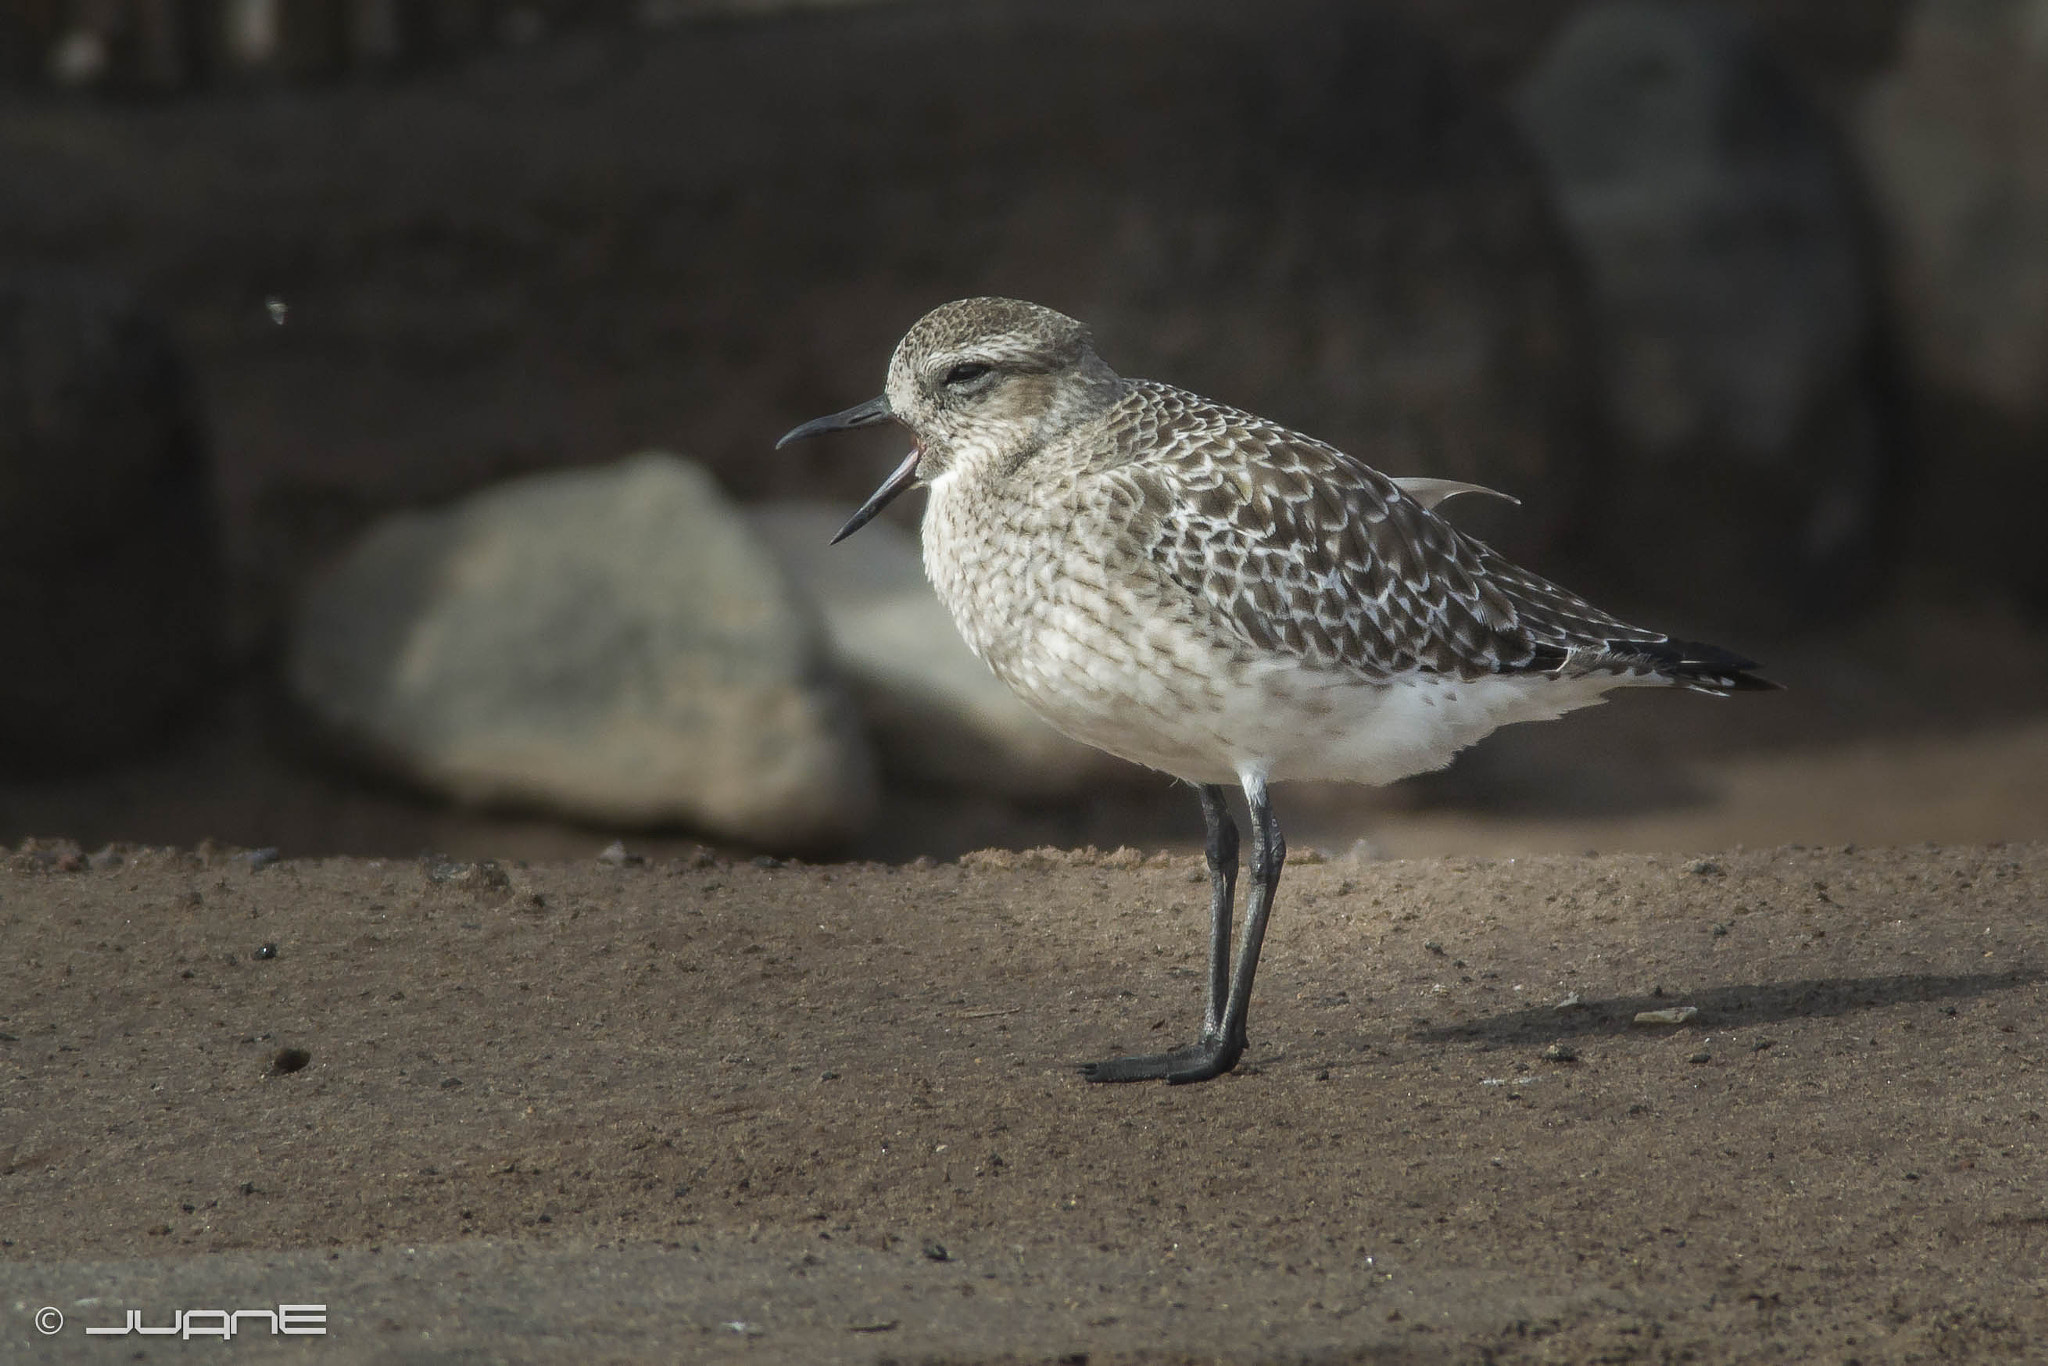
[{"label": "brown sandy ground the bird is standing on", "polygon": [[[1909,1362],[2048,1335],[2048,846],[0,874],[0,1358]],[[1565,1001],[1575,1008],[1561,1008]],[[1638,1012],[1692,1006],[1679,1026]],[[66,1327],[39,1335],[41,1307]]]}]

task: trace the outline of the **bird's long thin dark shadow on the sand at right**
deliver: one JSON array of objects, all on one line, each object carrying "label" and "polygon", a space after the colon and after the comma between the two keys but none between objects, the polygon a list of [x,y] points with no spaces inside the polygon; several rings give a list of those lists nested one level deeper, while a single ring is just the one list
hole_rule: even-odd
[{"label": "bird's long thin dark shadow on the sand at right", "polygon": [[1804,1020],[1845,1016],[1858,1010],[1901,1006],[1909,1001],[1948,1001],[2009,991],[2048,981],[2048,973],[2021,967],[2007,973],[1892,973],[1888,977],[1810,977],[1804,981],[1733,983],[1694,991],[1665,989],[1663,995],[1612,995],[1585,999],[1569,1010],[1532,1006],[1462,1024],[1417,1028],[1417,1042],[1485,1040],[1489,1044],[1520,1044],[1587,1034],[1622,1034],[1645,1010],[1696,1006],[1688,1020],[1696,1028],[1737,1028],[1772,1020]]}]

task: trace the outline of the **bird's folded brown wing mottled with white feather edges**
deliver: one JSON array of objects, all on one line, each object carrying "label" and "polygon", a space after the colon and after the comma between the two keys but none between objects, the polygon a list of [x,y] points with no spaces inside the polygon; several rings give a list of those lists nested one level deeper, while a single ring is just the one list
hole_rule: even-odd
[{"label": "bird's folded brown wing mottled with white feather edges", "polygon": [[[1167,385],[1133,387],[1100,477],[1128,553],[1249,647],[1368,678],[1659,674],[1726,690],[1749,661],[1630,627],[1528,573],[1341,451]],[[1694,659],[1700,649],[1712,657]]]}]

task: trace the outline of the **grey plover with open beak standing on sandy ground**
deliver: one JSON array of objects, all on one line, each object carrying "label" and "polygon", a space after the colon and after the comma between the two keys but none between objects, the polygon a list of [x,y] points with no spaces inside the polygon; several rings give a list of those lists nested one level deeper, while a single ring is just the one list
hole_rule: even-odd
[{"label": "grey plover with open beak standing on sandy ground", "polygon": [[[1487,489],[1391,479],[1266,418],[1122,379],[1087,328],[1034,303],[926,313],[883,397],[776,444],[889,418],[915,449],[834,541],[926,485],[926,571],[973,651],[1067,735],[1202,797],[1200,1034],[1090,1063],[1094,1081],[1204,1081],[1243,1055],[1286,858],[1270,782],[1393,782],[1616,686],[1776,686],[1724,649],[1608,616],[1436,514]],[[1235,971],[1229,782],[1251,815]]]}]

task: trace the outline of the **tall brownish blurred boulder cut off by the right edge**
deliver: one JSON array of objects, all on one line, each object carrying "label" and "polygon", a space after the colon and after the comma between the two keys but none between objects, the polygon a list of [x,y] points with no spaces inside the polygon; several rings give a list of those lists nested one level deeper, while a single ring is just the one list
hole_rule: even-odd
[{"label": "tall brownish blurred boulder cut off by the right edge", "polygon": [[1946,573],[2048,612],[2048,4],[1921,0],[1860,121]]}]

